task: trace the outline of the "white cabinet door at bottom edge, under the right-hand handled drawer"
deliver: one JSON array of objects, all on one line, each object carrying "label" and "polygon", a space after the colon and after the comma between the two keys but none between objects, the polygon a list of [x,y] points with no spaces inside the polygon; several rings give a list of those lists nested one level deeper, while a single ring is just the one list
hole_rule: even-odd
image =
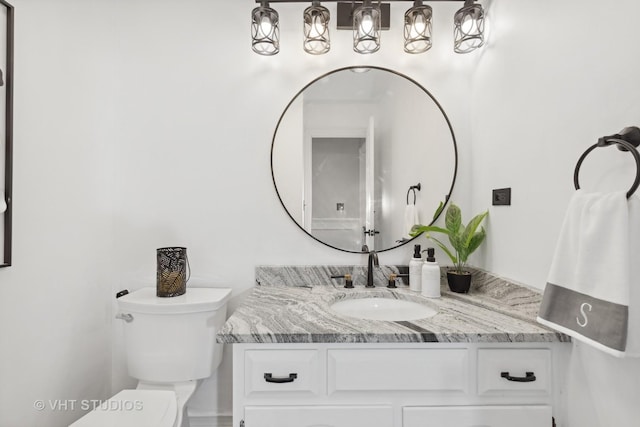
[{"label": "white cabinet door at bottom edge, under the right-hand handled drawer", "polygon": [[403,427],[550,427],[550,406],[405,407]]}]

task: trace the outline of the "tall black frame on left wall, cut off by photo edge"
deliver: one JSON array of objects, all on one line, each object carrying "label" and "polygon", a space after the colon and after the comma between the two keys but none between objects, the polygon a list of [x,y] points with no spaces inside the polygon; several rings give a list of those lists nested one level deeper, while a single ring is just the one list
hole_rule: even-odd
[{"label": "tall black frame on left wall, cut off by photo edge", "polygon": [[[0,204],[6,209],[0,213],[3,222],[2,264],[0,268],[11,266],[11,231],[13,223],[13,49],[14,49],[14,9],[5,0],[0,0],[0,108],[4,106],[4,129],[0,122],[0,144],[4,145],[4,200]],[[4,39],[4,40],[3,40]],[[2,99],[4,98],[4,99]],[[2,191],[2,187],[0,187]]]}]

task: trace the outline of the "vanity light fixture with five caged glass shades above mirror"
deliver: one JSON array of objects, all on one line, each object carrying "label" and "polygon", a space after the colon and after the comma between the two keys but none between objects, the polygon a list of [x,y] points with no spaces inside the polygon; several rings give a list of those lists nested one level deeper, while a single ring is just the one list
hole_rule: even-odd
[{"label": "vanity light fixture with five caged glass shades above mirror", "polygon": [[[310,0],[271,0],[271,3],[309,3]],[[329,10],[320,4],[321,0],[311,0],[311,6],[303,14],[303,48],[312,55],[329,52]],[[322,0],[337,5],[338,30],[353,31],[353,50],[370,54],[380,50],[381,30],[390,25],[389,2],[411,1],[413,6],[404,14],[404,51],[411,54],[423,53],[432,46],[433,8],[423,4],[427,0]],[[468,53],[484,44],[484,9],[476,0],[429,0],[464,2],[453,19],[454,51]],[[280,51],[280,30],[278,12],[269,7],[268,0],[255,0],[260,6],[251,13],[251,38],[254,52],[260,55],[275,55]]]}]

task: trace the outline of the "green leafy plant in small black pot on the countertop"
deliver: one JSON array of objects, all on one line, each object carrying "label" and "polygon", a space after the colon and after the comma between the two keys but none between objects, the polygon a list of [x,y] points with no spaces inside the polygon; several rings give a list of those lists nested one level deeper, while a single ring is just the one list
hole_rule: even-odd
[{"label": "green leafy plant in small black pot on the countertop", "polygon": [[[434,218],[437,218],[443,209],[442,202]],[[453,268],[447,271],[447,282],[449,288],[453,292],[467,293],[471,287],[471,272],[466,269],[467,259],[484,241],[486,233],[484,227],[480,223],[489,214],[488,211],[474,216],[469,223],[464,226],[462,224],[462,212],[455,204],[449,205],[445,215],[445,227],[437,227],[435,225],[413,226],[411,236],[417,236],[425,233],[426,237],[436,242],[436,244],[447,254],[453,263]],[[478,230],[480,227],[480,230]],[[449,236],[449,243],[452,249],[449,249],[444,243],[431,235],[432,232],[442,233]]]}]

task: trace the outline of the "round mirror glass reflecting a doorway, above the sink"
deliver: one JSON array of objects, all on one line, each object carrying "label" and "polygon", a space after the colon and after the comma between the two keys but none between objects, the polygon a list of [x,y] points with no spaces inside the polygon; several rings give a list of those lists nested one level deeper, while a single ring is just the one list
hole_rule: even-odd
[{"label": "round mirror glass reflecting a doorway, above the sink", "polygon": [[[273,135],[282,206],[314,239],[347,252],[385,251],[431,224],[458,167],[451,123],[414,80],[347,67],[306,85]],[[366,245],[366,247],[364,247]]]}]

